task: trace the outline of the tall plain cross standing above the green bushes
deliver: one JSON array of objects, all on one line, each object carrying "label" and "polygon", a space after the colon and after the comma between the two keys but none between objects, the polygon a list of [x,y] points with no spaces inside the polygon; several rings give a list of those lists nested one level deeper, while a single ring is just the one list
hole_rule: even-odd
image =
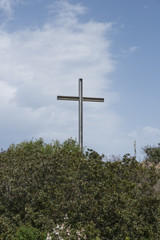
[{"label": "tall plain cross standing above the green bushes", "polygon": [[83,148],[83,102],[104,102],[104,98],[83,97],[83,79],[79,79],[79,96],[57,96],[57,100],[69,100],[79,102],[79,145]]}]

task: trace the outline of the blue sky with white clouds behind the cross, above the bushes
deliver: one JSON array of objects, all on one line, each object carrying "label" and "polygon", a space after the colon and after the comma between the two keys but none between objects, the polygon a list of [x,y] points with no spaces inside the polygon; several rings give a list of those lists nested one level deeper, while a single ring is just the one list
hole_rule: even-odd
[{"label": "blue sky with white clouds behind the cross, above the bushes", "polygon": [[107,156],[160,142],[159,0],[0,0],[0,147],[78,138]]}]

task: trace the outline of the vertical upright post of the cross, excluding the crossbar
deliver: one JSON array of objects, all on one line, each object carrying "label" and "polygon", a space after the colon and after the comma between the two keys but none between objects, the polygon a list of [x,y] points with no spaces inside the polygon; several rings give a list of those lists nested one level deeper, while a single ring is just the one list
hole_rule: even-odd
[{"label": "vertical upright post of the cross, excluding the crossbar", "polygon": [[83,79],[79,79],[79,145],[83,148]]}]

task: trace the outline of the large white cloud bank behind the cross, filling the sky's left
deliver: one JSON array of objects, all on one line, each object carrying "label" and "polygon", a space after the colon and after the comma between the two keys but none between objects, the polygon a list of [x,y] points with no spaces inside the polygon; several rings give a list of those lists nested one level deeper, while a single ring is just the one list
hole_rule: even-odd
[{"label": "large white cloud bank behind the cross, filling the sky's left", "polygon": [[114,70],[107,39],[112,23],[82,22],[85,8],[66,1],[49,11],[52,18],[39,28],[0,31],[0,142],[5,147],[32,137],[77,137],[77,103],[56,97],[77,95],[78,79],[84,78],[84,95],[108,99],[84,104],[84,142],[102,149],[120,122],[109,110],[117,99],[108,78]]}]

